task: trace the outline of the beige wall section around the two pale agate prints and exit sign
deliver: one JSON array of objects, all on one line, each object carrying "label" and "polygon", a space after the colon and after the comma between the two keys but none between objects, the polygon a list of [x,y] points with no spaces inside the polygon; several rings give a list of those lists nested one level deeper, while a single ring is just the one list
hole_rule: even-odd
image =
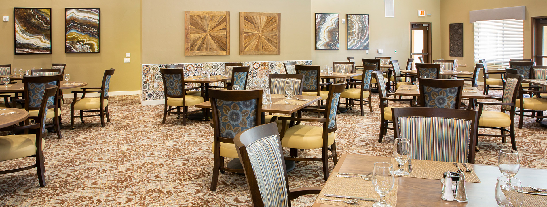
[{"label": "beige wall section around the two pale agate prints and exit sign", "polygon": [[[383,0],[313,0],[311,8],[309,16],[312,21],[315,21],[315,13],[340,13],[340,50],[315,50],[315,25],[310,27],[313,64],[332,66],[333,61],[346,61],[350,56],[355,57],[357,64],[362,64],[362,58],[391,56],[392,60],[398,60],[401,66],[405,66],[406,60],[410,58],[410,22],[432,23],[432,57],[436,59],[440,56],[439,0],[397,0],[395,17],[384,17]],[[418,16],[418,10],[426,10],[426,13],[432,15]],[[341,19],[346,19],[346,14],[369,15],[369,54],[365,54],[364,50],[346,50],[347,26],[341,22]],[[383,54],[376,54],[377,49],[382,49]]]}]

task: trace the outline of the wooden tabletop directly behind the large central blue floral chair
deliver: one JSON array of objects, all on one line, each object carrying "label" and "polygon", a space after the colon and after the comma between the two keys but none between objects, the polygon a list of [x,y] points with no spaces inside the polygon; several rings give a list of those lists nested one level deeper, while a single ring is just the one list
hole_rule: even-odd
[{"label": "wooden tabletop directly behind the large central blue floral chair", "polygon": [[[293,96],[292,98],[300,98],[300,99],[309,99],[306,103],[302,105],[293,105],[293,104],[275,104],[276,102],[283,100],[287,97],[284,97],[282,94],[272,94],[272,104],[263,105],[262,106],[262,112],[265,113],[281,113],[281,114],[292,114],[296,111],[307,107],[308,105],[317,102],[318,100],[321,100],[320,96]],[[203,102],[200,104],[196,104],[196,107],[199,108],[206,108],[211,109],[211,102]]]}]

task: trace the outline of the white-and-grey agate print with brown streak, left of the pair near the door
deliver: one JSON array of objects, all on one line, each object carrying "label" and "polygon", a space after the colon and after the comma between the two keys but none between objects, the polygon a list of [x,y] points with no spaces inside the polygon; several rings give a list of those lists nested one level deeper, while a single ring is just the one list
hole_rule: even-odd
[{"label": "white-and-grey agate print with brown streak, left of the pair near the door", "polygon": [[339,14],[315,13],[315,49],[339,50]]}]

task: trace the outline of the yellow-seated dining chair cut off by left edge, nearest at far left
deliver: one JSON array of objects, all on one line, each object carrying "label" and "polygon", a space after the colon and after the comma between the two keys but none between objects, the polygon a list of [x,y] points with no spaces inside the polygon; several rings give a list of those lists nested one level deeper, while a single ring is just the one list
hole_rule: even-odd
[{"label": "yellow-seated dining chair cut off by left edge, nearest at far left", "polygon": [[40,103],[36,104],[39,105],[38,113],[34,114],[34,116],[28,116],[28,119],[35,120],[35,122],[31,125],[2,128],[2,131],[35,129],[34,134],[16,134],[0,137],[0,162],[24,157],[35,157],[36,163],[18,169],[3,170],[0,171],[0,174],[15,173],[36,168],[38,183],[44,187],[46,184],[43,150],[45,145],[44,137],[48,134],[48,130],[45,128],[46,111],[48,111],[51,105],[55,105],[51,100],[56,99],[59,87],[42,84],[40,88],[42,90],[37,90],[34,94],[36,100],[40,100]]}]

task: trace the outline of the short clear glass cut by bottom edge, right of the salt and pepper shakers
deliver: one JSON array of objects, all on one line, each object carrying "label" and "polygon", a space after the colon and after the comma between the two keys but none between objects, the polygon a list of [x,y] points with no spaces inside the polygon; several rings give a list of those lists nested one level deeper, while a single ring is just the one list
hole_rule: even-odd
[{"label": "short clear glass cut by bottom edge, right of the salt and pepper shakers", "polygon": [[[505,186],[511,186],[505,189]],[[519,179],[500,176],[496,182],[496,202],[503,207],[518,207],[522,205],[522,186]]]}]

